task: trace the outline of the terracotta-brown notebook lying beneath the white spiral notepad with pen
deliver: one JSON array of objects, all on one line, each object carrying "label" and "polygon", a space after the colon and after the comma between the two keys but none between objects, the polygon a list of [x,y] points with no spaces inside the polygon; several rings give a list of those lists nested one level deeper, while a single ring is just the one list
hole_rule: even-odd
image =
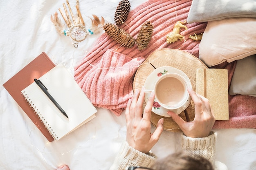
[{"label": "terracotta-brown notebook lying beneath the white spiral notepad with pen", "polygon": [[54,138],[48,132],[38,115],[36,115],[34,110],[32,110],[28,105],[20,91],[29,86],[29,84],[33,83],[34,77],[41,77],[49,70],[54,68],[54,66],[55,64],[52,62],[52,60],[50,60],[47,54],[43,52],[3,84],[4,88],[6,88],[6,90],[10,93],[11,97],[13,97],[22,110],[28,115],[28,117],[34,122],[34,124],[50,142],[53,141]]}]

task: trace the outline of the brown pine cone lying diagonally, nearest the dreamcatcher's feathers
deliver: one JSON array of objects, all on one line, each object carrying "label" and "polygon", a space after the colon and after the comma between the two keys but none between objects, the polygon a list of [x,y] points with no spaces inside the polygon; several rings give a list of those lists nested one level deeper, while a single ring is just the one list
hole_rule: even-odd
[{"label": "brown pine cone lying diagonally, nearest the dreamcatcher's feathers", "polygon": [[103,30],[118,44],[130,48],[134,46],[135,39],[130,36],[124,29],[119,28],[115,24],[107,23],[103,26]]}]

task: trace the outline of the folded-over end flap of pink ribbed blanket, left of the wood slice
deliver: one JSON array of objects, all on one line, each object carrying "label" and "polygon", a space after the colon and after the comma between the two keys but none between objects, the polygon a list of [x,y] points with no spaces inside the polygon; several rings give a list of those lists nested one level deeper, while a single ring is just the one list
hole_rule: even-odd
[{"label": "folded-over end flap of pink ribbed blanket, left of the wood slice", "polygon": [[96,67],[85,68],[87,76],[82,77],[81,82],[86,83],[79,85],[94,106],[110,109],[119,115],[122,109],[117,108],[126,107],[128,99],[132,98],[132,75],[143,60],[143,57],[131,58],[107,50],[95,64]]}]

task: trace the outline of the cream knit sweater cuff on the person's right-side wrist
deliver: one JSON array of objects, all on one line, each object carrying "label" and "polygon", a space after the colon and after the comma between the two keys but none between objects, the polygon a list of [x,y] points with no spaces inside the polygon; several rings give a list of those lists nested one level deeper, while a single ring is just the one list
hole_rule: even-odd
[{"label": "cream knit sweater cuff on the person's right-side wrist", "polygon": [[182,135],[182,149],[193,154],[194,157],[202,156],[213,163],[217,133],[211,132],[208,137],[192,138]]}]

